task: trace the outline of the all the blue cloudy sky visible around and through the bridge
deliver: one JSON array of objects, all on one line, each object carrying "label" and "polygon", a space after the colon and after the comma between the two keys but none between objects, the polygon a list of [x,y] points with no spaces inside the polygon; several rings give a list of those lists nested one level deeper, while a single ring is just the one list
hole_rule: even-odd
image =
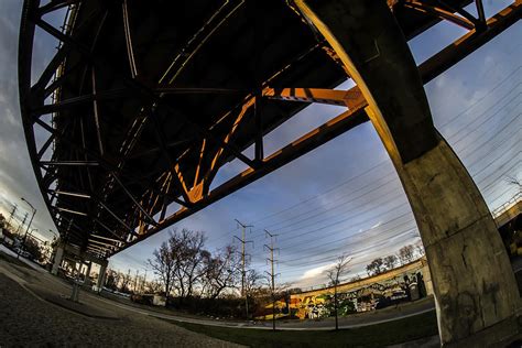
[{"label": "all the blue cloudy sky visible around and through the bridge", "polygon": [[[485,1],[487,17],[510,1]],[[18,205],[19,221],[29,206],[37,209],[36,235],[51,239],[56,230],[41,197],[21,126],[17,54],[20,0],[0,1],[0,213]],[[469,9],[472,12],[472,8]],[[48,19],[59,23],[63,13]],[[417,64],[465,32],[443,22],[410,41]],[[516,37],[519,40],[516,40]],[[510,202],[522,181],[521,81],[522,25],[520,21],[490,43],[425,86],[434,122],[467,167],[492,211]],[[33,76],[56,50],[56,41],[36,32]],[[337,89],[351,86],[346,81]],[[303,86],[313,87],[313,86]],[[264,139],[268,155],[342,112],[334,106],[312,105]],[[37,142],[45,134],[36,133]],[[252,149],[244,151],[252,155]],[[233,161],[222,167],[214,185],[244,170]],[[206,248],[232,243],[247,229],[251,265],[268,270],[264,229],[278,235],[279,281],[294,286],[326,282],[324,271],[342,253],[352,257],[351,278],[365,273],[377,257],[420,244],[418,231],[399,177],[371,123],[367,122],[295,160],[255,183],[184,219],[172,228],[205,231]],[[168,230],[118,253],[113,269],[143,273],[146,259],[167,238]],[[150,270],[149,270],[150,271]],[[151,274],[151,273],[149,273]]]}]

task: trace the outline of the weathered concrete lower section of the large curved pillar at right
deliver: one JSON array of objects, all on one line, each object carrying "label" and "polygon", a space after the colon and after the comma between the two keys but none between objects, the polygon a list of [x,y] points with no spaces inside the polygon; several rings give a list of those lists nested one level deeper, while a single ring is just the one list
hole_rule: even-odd
[{"label": "weathered concrete lower section of the large curved pillar at right", "polygon": [[[520,296],[514,274],[491,214],[464,165],[441,139],[418,159],[395,166],[426,249],[443,345],[472,339],[493,326],[499,327],[496,333],[509,331],[500,323],[516,323]],[[489,340],[497,342],[493,336]]]}]

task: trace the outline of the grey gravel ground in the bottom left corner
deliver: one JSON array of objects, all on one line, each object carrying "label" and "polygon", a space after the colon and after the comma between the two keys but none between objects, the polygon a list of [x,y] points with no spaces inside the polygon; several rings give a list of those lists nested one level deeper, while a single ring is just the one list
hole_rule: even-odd
[{"label": "grey gravel ground in the bottom left corner", "polygon": [[[99,301],[97,305],[113,312],[118,319],[69,312],[28,291],[45,286],[46,281],[48,289],[59,287],[47,276],[0,260],[0,347],[239,347]],[[63,287],[67,292],[65,284]],[[84,301],[90,305],[97,302],[87,296]]]}]

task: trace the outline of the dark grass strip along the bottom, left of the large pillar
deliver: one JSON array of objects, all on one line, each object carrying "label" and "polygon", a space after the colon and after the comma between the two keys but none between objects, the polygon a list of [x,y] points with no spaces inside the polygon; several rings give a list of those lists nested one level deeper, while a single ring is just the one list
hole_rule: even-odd
[{"label": "dark grass strip along the bottom, left of the large pillar", "polygon": [[437,335],[435,311],[338,331],[228,328],[167,320],[192,331],[250,347],[381,347]]}]

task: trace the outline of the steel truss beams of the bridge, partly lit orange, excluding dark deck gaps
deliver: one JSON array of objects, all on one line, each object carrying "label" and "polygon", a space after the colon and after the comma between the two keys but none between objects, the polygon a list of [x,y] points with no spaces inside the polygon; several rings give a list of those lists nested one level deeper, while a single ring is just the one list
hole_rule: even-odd
[{"label": "steel truss beams of the bridge, partly lit orange, excluding dark deck gaps", "polygon": [[[251,89],[177,87],[174,81],[192,57],[230,20],[235,11],[249,6],[244,1],[226,1],[187,40],[160,81],[151,85],[143,78],[146,72],[135,56],[137,43],[129,13],[131,8],[127,0],[107,2],[110,4],[104,6],[100,1],[96,12],[90,17],[84,15],[83,22],[78,22],[84,1],[57,0],[40,6],[40,1],[26,0],[19,56],[21,111],[40,189],[62,238],[97,257],[110,257],[176,224],[368,120],[365,111],[367,102],[357,86],[349,90],[273,87],[272,83],[279,76],[312,52],[322,52],[334,62],[338,61],[335,52],[316,32],[315,45],[269,78],[253,73]],[[520,1],[490,19],[485,17],[481,0],[476,1],[477,18],[464,8],[444,1],[404,0],[390,6],[398,13],[418,12],[432,21],[446,20],[467,30],[466,35],[418,66],[424,83],[512,25],[521,14]],[[300,17],[291,1],[287,9]],[[55,28],[45,20],[48,14],[64,10],[67,12],[62,28]],[[90,45],[78,40],[81,37],[79,32],[94,22],[100,23],[99,28],[108,25],[105,21],[115,11],[122,21],[121,45],[124,46],[127,62],[121,65],[124,68],[115,67],[104,52],[94,50],[98,40],[96,35],[91,37]],[[36,28],[55,37],[59,45],[54,57],[32,83]],[[417,32],[424,29],[417,28]],[[108,70],[119,72],[115,74],[121,83],[110,88],[107,88],[108,84],[100,83]],[[79,76],[83,86],[73,93],[72,76]],[[193,95],[210,95],[214,98],[233,96],[240,102],[208,124],[194,121],[191,115],[182,113],[165,102],[172,96]],[[120,113],[117,107],[120,100],[140,104],[139,111],[124,127],[115,121]],[[274,100],[337,105],[347,107],[347,110],[265,155],[263,138],[271,129],[263,127],[263,110]],[[76,110],[88,112],[75,117]],[[175,115],[185,138],[172,139],[166,134],[163,120],[168,112]],[[246,131],[246,122],[253,126],[248,128],[251,141],[240,143],[239,134]],[[37,142],[42,133],[46,134],[45,140]],[[253,157],[243,153],[251,144]],[[161,171],[143,167],[142,172],[128,167],[128,163],[143,157],[163,161],[166,165]],[[244,163],[247,170],[213,187],[219,168],[233,159]]]}]

